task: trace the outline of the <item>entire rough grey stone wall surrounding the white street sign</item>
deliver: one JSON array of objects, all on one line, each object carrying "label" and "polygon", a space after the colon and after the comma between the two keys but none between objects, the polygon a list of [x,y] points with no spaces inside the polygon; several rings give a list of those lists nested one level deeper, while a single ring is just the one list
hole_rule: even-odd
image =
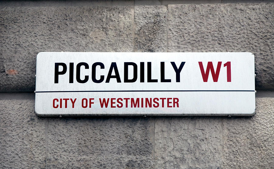
[{"label": "entire rough grey stone wall surrounding the white street sign", "polygon": [[34,94],[0,93],[0,168],[274,166],[273,3],[56,4],[0,3],[1,92],[35,90],[41,51],[247,51],[255,55],[256,89],[267,91],[257,93],[254,116],[231,118],[42,118]]}]

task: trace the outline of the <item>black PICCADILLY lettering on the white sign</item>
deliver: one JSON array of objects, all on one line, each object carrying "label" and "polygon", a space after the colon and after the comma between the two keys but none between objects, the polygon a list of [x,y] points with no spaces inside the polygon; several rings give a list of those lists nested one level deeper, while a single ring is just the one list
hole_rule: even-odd
[{"label": "black PICCADILLY lettering on the white sign", "polygon": [[[179,66],[175,64],[175,62],[170,62],[174,69],[174,73],[176,74],[176,82],[180,82],[180,73],[184,67],[185,62],[181,62]],[[128,77],[128,67],[133,67],[133,78],[129,79]],[[76,81],[78,83],[86,83],[90,79],[90,75],[85,75],[83,79],[80,78],[81,75],[81,67],[84,69],[90,69],[90,65],[86,62],[80,62],[76,65],[76,70],[74,70],[74,63],[69,63],[66,65],[65,63],[57,62],[54,67],[54,83],[59,83],[59,76],[64,75],[68,72],[69,74],[69,83],[74,83],[74,71],[76,71]],[[61,69],[59,69],[61,68]],[[82,69],[83,69],[82,68]],[[118,67],[116,62],[111,62],[109,67],[109,71],[106,75],[100,75],[100,79],[96,79],[96,70],[97,69],[105,69],[105,65],[102,62],[95,62],[91,66],[91,80],[94,83],[109,83],[110,79],[116,79],[117,83],[121,83],[121,77],[118,71]],[[114,72],[114,75],[112,73]],[[145,62],[140,62],[139,66],[139,75],[140,75],[140,83],[145,82]],[[124,83],[134,83],[137,81],[138,77],[138,66],[134,62],[124,62]],[[171,82],[171,79],[165,78],[165,62],[160,62],[160,82]],[[147,62],[147,82],[148,83],[157,83],[158,79],[152,78],[152,64],[151,62]]]}]

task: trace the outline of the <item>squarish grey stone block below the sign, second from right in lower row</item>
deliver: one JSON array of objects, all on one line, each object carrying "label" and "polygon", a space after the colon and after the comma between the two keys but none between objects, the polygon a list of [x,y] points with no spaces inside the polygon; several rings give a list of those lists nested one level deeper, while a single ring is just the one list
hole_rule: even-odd
[{"label": "squarish grey stone block below the sign, second from right in lower row", "polygon": [[218,168],[222,148],[222,118],[155,119],[156,168]]}]

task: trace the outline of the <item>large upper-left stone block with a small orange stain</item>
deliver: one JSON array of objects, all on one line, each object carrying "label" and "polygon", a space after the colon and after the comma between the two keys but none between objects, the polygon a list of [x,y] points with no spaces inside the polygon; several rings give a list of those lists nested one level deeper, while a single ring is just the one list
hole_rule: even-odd
[{"label": "large upper-left stone block with a small orange stain", "polygon": [[133,51],[132,6],[4,7],[0,13],[2,92],[35,90],[41,51]]}]

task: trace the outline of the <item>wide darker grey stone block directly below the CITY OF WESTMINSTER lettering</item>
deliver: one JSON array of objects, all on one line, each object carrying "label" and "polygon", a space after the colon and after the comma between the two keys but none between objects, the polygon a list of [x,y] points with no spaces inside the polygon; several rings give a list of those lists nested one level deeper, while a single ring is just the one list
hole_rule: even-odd
[{"label": "wide darker grey stone block directly below the CITY OF WESTMINSTER lettering", "polygon": [[47,166],[152,168],[153,136],[151,118],[52,118]]}]

